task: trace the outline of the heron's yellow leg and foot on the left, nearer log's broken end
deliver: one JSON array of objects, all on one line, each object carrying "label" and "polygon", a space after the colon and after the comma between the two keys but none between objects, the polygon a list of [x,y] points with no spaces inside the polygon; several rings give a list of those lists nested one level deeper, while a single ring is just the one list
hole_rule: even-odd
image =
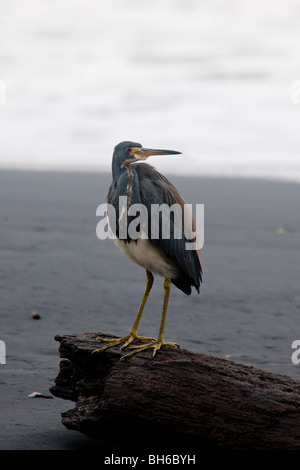
[{"label": "heron's yellow leg and foot on the left, nearer log's broken end", "polygon": [[93,352],[102,352],[102,351],[105,351],[105,349],[111,348],[113,346],[118,346],[119,344],[122,344],[122,343],[124,343],[124,344],[121,346],[121,349],[125,349],[134,340],[152,341],[152,342],[156,341],[155,338],[149,338],[148,336],[138,336],[137,335],[137,329],[138,329],[140,319],[141,319],[144,307],[146,305],[149,293],[151,291],[152,285],[153,285],[153,274],[150,273],[150,271],[146,271],[146,288],[145,288],[145,292],[144,292],[140,307],[138,309],[138,313],[135,317],[135,320],[134,320],[134,323],[132,325],[130,333],[128,333],[128,335],[126,335],[126,336],[123,336],[122,338],[110,338],[110,339],[99,338],[101,341],[109,342],[109,344],[107,346],[104,346],[103,348],[96,349]]}]

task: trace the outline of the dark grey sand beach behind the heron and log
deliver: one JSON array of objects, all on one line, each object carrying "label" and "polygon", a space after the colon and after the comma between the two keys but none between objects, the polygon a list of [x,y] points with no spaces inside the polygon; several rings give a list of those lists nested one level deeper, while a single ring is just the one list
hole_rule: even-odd
[{"label": "dark grey sand beach behind the heron and log", "polygon": [[[291,361],[300,339],[300,185],[166,176],[187,202],[205,205],[207,262],[200,296],[173,287],[166,340],[300,379]],[[64,428],[60,413],[71,402],[28,397],[50,395],[56,334],[125,334],[133,322],[144,271],[96,237],[110,181],[100,173],[0,173],[2,450],[114,449]],[[156,278],[141,334],[156,336],[162,296]]]}]

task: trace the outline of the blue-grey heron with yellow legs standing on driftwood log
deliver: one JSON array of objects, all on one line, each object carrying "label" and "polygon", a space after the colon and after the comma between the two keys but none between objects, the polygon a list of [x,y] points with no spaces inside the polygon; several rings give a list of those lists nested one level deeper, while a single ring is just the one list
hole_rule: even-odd
[{"label": "blue-grey heron with yellow legs standing on driftwood log", "polygon": [[[151,155],[177,154],[181,154],[181,152],[144,148],[140,143],[131,141],[120,142],[114,148],[112,182],[108,190],[106,203],[108,207],[113,209],[115,217],[112,217],[113,211],[108,210],[108,221],[113,238],[120,251],[131,261],[145,269],[146,287],[130,332],[120,338],[99,338],[101,341],[108,342],[108,344],[96,349],[94,352],[103,352],[110,347],[121,345],[121,350],[130,349],[129,353],[121,357],[121,359],[124,359],[148,349],[153,349],[153,357],[155,357],[162,346],[179,347],[177,343],[164,341],[171,285],[175,285],[187,295],[191,294],[192,287],[195,288],[198,294],[200,293],[203,265],[202,250],[186,248],[186,235],[183,232],[182,225],[179,226],[175,214],[170,217],[168,237],[162,236],[164,228],[162,216],[155,219],[157,227],[153,227],[153,218],[149,216],[152,207],[157,208],[162,205],[171,207],[175,204],[174,207],[184,209],[186,202],[165,176],[152,165],[143,162]],[[122,197],[126,202],[125,206],[120,209]],[[147,226],[147,223],[141,222],[136,227],[140,230],[137,230],[137,235],[133,236],[128,230],[121,237],[121,231],[124,229],[122,224],[125,223],[125,227],[129,227],[129,222],[134,220],[130,212],[134,205],[142,205],[147,209],[148,218],[146,217],[144,222],[148,222],[148,232],[143,233],[143,236],[141,236],[144,226]],[[172,215],[171,212],[170,214]],[[195,222],[191,214],[189,214],[189,220],[192,223],[192,229],[195,230]],[[156,232],[154,230],[156,236],[153,235],[153,228],[156,229]],[[175,236],[176,230],[181,237],[178,237],[178,233]],[[153,285],[154,275],[164,278],[164,298],[157,339],[137,334],[139,322]],[[132,344],[133,342],[135,342],[135,345]],[[142,342],[142,344],[136,345],[136,342]]]}]

